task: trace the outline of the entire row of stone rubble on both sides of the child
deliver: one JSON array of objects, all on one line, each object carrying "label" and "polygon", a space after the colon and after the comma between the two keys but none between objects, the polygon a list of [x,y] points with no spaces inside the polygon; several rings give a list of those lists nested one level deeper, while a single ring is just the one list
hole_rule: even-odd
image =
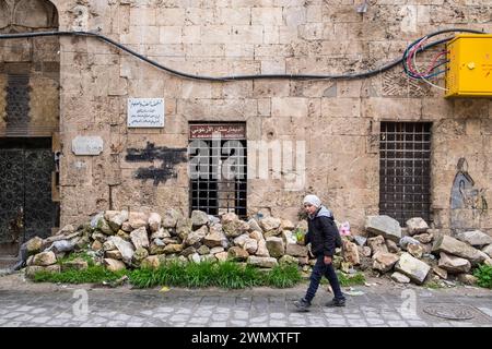
[{"label": "entire row of stone rubble on both sides of the child", "polygon": [[[26,243],[27,275],[38,270],[86,268],[82,260],[57,261],[72,251],[85,251],[110,270],[159,267],[164,261],[237,261],[262,268],[294,264],[309,272],[315,260],[303,236],[307,222],[265,217],[242,220],[227,213],[220,218],[194,210],[184,217],[176,209],[163,215],[106,210],[90,224],[67,226],[47,239]],[[368,216],[366,237],[342,234],[335,266],[353,274],[358,269],[396,282],[421,285],[429,280],[475,282],[470,275],[480,263],[491,264],[492,238],[481,231],[454,237],[440,234],[422,218],[411,218],[405,228],[388,216]]]}]

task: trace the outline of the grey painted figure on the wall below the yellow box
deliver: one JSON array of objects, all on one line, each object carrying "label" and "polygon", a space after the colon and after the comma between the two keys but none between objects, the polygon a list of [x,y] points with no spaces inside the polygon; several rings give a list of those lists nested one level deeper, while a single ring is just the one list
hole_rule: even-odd
[{"label": "grey painted figure on the wall below the yellow box", "polygon": [[453,182],[450,195],[450,228],[453,230],[479,228],[477,218],[489,208],[485,200],[487,188],[477,188],[468,173],[466,158],[460,158]]}]

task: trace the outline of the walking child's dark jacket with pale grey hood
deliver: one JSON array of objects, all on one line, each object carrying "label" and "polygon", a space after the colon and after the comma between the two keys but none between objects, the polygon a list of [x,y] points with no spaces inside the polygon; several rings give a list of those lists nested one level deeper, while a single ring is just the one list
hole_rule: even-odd
[{"label": "walking child's dark jacket with pale grey hood", "polygon": [[315,256],[333,256],[335,249],[341,246],[340,232],[333,216],[324,206],[319,207],[314,217],[307,218],[306,244],[311,242],[311,251]]}]

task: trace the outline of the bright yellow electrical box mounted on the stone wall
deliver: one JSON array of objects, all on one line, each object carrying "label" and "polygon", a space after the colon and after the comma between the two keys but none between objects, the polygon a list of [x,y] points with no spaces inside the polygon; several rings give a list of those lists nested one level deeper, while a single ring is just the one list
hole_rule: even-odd
[{"label": "bright yellow electrical box mounted on the stone wall", "polygon": [[445,97],[492,97],[492,34],[459,34],[446,50]]}]

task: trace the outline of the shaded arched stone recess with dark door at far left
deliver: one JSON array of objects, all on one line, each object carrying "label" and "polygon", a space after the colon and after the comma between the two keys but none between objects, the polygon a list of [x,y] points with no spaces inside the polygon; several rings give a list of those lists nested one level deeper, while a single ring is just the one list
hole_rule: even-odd
[{"label": "shaded arched stone recess with dark door at far left", "polygon": [[[0,34],[39,31],[58,31],[51,2],[0,0]],[[59,225],[59,47],[58,37],[0,40],[0,268]]]}]

